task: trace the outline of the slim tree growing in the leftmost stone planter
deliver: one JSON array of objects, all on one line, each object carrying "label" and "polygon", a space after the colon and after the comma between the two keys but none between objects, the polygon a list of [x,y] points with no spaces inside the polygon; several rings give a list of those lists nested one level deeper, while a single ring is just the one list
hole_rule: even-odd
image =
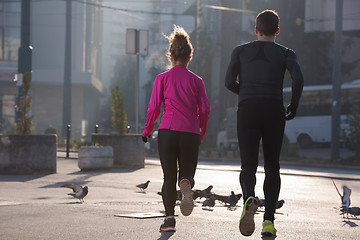
[{"label": "slim tree growing in the leftmost stone planter", "polygon": [[31,72],[26,72],[23,75],[23,83],[21,85],[20,95],[20,118],[16,123],[17,134],[31,134],[33,127],[33,115],[31,114]]}]

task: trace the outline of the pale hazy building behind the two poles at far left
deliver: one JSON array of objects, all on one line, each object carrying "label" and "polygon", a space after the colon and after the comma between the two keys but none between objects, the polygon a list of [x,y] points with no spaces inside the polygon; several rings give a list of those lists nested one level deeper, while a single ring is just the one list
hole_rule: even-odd
[{"label": "pale hazy building behind the two poles at far left", "polygon": [[[72,2],[71,137],[89,140],[99,119],[101,83],[102,8],[92,1]],[[96,1],[99,3],[100,1]],[[65,1],[32,1],[32,114],[35,133],[62,127],[65,52]],[[0,1],[0,114],[1,132],[14,122],[17,50],[20,46],[21,1]],[[10,113],[11,112],[11,113]]]}]

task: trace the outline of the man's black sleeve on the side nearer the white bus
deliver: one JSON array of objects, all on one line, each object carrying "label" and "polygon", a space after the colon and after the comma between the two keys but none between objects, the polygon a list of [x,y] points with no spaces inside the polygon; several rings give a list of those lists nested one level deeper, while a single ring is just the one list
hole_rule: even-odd
[{"label": "man's black sleeve on the side nearer the white bus", "polygon": [[297,61],[297,56],[295,52],[290,49],[287,51],[286,69],[289,71],[292,79],[292,96],[290,103],[297,108],[299,106],[299,101],[304,86],[304,78],[300,69],[300,65]]}]

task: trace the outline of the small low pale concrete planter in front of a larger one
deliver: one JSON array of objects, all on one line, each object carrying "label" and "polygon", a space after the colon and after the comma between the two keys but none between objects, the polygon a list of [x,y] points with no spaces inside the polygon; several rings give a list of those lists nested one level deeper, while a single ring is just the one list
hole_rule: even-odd
[{"label": "small low pale concrete planter in front of a larger one", "polygon": [[113,157],[114,151],[111,146],[80,147],[78,166],[82,171],[111,168]]}]

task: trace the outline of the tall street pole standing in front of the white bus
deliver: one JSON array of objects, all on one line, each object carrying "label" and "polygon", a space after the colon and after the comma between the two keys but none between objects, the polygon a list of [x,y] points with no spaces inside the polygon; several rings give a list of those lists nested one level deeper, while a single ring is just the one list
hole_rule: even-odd
[{"label": "tall street pole standing in front of the white bus", "polygon": [[333,87],[331,111],[331,160],[340,157],[340,115],[341,115],[341,46],[342,46],[343,0],[336,0],[335,43],[333,60]]}]

